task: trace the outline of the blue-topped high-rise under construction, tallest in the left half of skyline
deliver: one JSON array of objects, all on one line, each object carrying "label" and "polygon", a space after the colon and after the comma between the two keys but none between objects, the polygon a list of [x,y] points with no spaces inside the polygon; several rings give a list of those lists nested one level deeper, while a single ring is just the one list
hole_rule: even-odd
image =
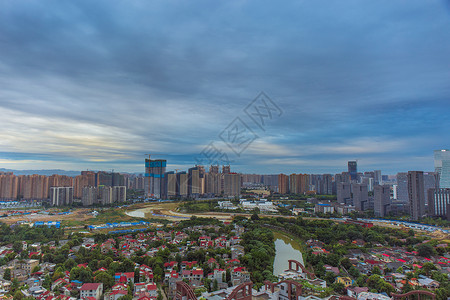
[{"label": "blue-topped high-rise under construction, tallest in the left half of skyline", "polygon": [[161,199],[164,188],[164,173],[167,161],[165,159],[145,160],[145,195],[146,197]]}]

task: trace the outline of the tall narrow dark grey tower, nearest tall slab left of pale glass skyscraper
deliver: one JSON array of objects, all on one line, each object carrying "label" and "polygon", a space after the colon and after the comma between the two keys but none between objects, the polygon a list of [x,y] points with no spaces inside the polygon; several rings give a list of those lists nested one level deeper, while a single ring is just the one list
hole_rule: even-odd
[{"label": "tall narrow dark grey tower, nearest tall slab left of pale glass skyscraper", "polygon": [[419,220],[425,214],[425,196],[422,171],[408,172],[409,211],[413,220]]}]

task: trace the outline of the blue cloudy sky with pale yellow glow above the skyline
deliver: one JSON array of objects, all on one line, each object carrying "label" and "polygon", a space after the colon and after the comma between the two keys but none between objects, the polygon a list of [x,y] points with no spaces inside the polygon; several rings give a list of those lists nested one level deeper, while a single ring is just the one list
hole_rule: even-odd
[{"label": "blue cloudy sky with pale yellow glow above the skyline", "polygon": [[3,0],[0,168],[432,171],[449,28],[448,0]]}]

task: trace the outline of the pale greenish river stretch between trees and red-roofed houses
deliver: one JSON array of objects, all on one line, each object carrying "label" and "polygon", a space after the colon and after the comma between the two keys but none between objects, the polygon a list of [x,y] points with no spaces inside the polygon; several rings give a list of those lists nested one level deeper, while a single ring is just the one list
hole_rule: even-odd
[{"label": "pale greenish river stretch between trees and red-roofed houses", "polygon": [[289,268],[288,260],[295,259],[303,263],[300,244],[289,236],[274,232],[275,260],[273,261],[273,274],[279,275]]}]

